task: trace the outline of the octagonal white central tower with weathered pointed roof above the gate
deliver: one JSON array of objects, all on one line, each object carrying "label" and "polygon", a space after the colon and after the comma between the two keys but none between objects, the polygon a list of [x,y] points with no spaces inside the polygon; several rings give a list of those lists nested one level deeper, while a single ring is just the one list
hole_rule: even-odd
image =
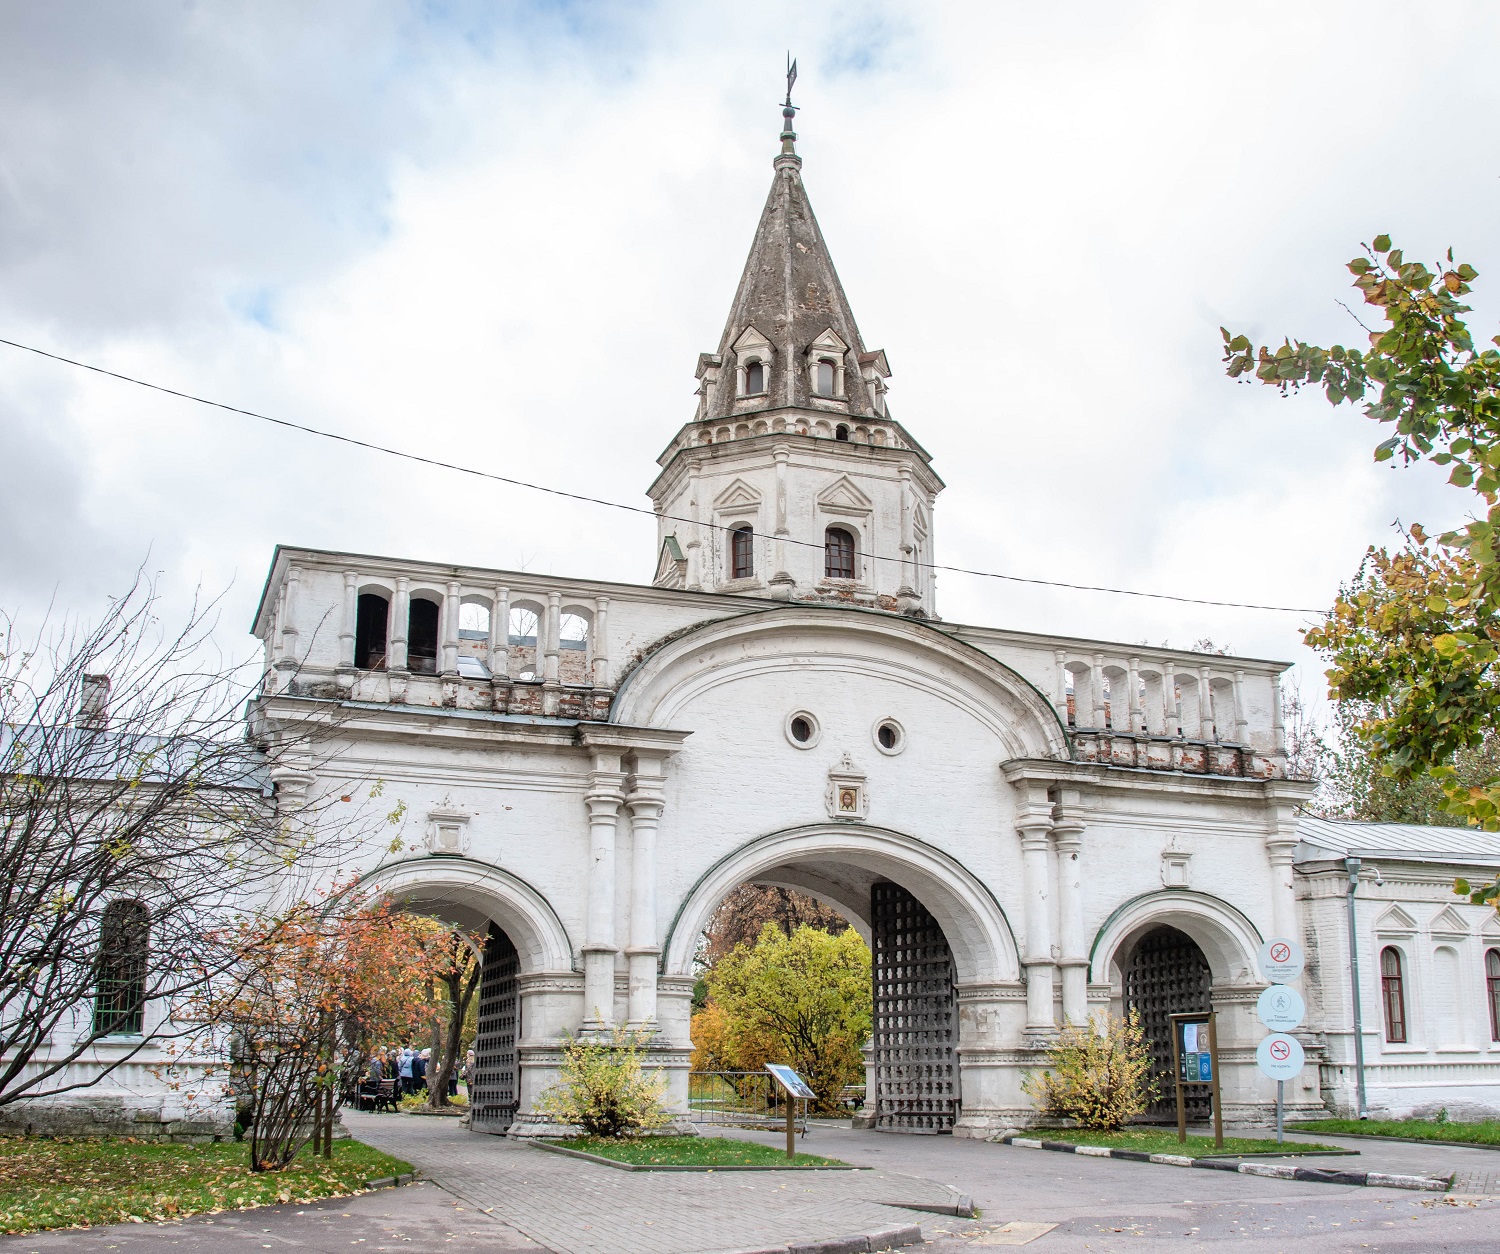
[{"label": "octagonal white central tower with weathered pointed roof above the gate", "polygon": [[932,616],[932,458],[891,417],[802,188],[796,111],[698,412],[657,459],[656,584]]}]

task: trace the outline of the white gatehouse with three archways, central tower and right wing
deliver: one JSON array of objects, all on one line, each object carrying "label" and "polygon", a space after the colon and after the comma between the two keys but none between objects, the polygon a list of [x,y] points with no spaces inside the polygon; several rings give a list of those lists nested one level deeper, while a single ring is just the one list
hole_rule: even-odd
[{"label": "white gatehouse with three archways, central tower and right wing", "polygon": [[[564,1034],[628,1024],[686,1102],[698,938],[741,884],[874,952],[867,1112],[988,1136],[1066,1023],[1212,1008],[1224,1114],[1266,1122],[1257,948],[1300,940],[1294,1114],[1500,1110],[1500,926],[1474,832],[1310,820],[1287,664],[944,621],[942,480],[886,400],[782,152],[650,584],[279,548],[254,622],[278,804],[380,782],[366,888],[488,930],[474,1128],[538,1131]],[[322,728],[326,758],[278,752]],[[1377,878],[1378,872],[1378,878]],[[1480,870],[1482,874],[1482,870]]]}]

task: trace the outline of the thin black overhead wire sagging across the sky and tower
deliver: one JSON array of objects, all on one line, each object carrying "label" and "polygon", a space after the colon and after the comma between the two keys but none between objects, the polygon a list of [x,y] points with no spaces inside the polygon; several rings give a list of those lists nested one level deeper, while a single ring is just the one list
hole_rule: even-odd
[{"label": "thin black overhead wire sagging across the sky and tower", "polygon": [[[680,514],[658,514],[656,510],[648,510],[648,508],[645,508],[642,506],[627,506],[627,504],[622,504],[621,501],[606,501],[602,496],[586,496],[582,492],[567,492],[567,490],[564,490],[561,488],[548,488],[548,486],[544,486],[542,483],[528,483],[524,478],[512,478],[512,477],[504,476],[504,474],[495,474],[494,471],[482,471],[482,470],[476,470],[474,466],[462,466],[462,465],[458,465],[456,462],[444,462],[440,458],[424,458],[420,453],[408,453],[408,452],[405,452],[402,448],[390,448],[390,447],[387,447],[384,444],[374,444],[369,440],[358,440],[358,438],[356,438],[352,435],[339,435],[338,432],[321,430],[320,428],[306,426],[304,423],[294,423],[294,422],[291,422],[288,418],[274,418],[270,414],[258,414],[254,410],[242,410],[238,405],[226,405],[222,400],[210,400],[207,396],[194,396],[190,392],[180,392],[176,387],[165,387],[164,384],[147,382],[146,380],[138,380],[138,378],[134,378],[132,375],[122,375],[118,370],[106,370],[104,366],[94,366],[94,364],[90,364],[88,362],[78,362],[78,360],[75,360],[72,357],[63,357],[63,356],[60,356],[57,352],[48,352],[45,348],[36,348],[34,345],[30,345],[30,344],[18,344],[14,339],[0,339],[0,344],[4,344],[8,346],[10,346],[10,348],[20,348],[22,352],[34,352],[38,357],[48,357],[52,362],[62,362],[64,366],[76,366],[81,370],[92,370],[96,375],[108,375],[112,380],[120,380],[122,382],[130,382],[130,384],[135,384],[136,387],[146,387],[146,388],[150,388],[152,392],[164,392],[168,396],[177,396],[177,398],[180,398],[183,400],[192,400],[192,402],[195,402],[198,405],[208,405],[208,406],[212,406],[214,410],[225,410],[226,412],[240,414],[242,417],[255,418],[256,422],[270,423],[272,426],[286,428],[288,430],[300,430],[304,435],[315,435],[320,440],[336,440],[339,444],[352,444],[356,448],[368,448],[372,453],[384,453],[388,458],[402,458],[404,460],[420,462],[422,465],[436,466],[438,470],[456,471],[458,474],[470,474],[470,476],[474,476],[476,478],[488,478],[488,480],[492,480],[495,483],[507,483],[512,488],[525,488],[525,489],[528,489],[531,492],[544,492],[549,496],[562,496],[562,498],[566,498],[568,501],[584,501],[585,504],[590,504],[590,506],[604,506],[606,508],[610,508],[610,510],[626,510],[627,513],[645,514],[646,518],[652,518],[652,519],[666,519],[668,522],[681,522],[681,524],[687,524],[690,526],[705,526],[705,528],[710,528],[712,531],[724,531],[724,532],[728,532],[728,531],[734,530],[734,528],[724,526],[723,524],[702,522],[699,519],[682,518]],[[806,549],[819,549],[820,550],[824,548],[822,544],[819,544],[816,542],[812,542],[812,540],[794,540],[789,536],[766,536],[765,532],[753,532],[753,534],[758,534],[762,538],[780,540],[783,544],[796,544],[796,546],[806,548]],[[909,558],[888,556],[888,555],[882,555],[882,554],[867,554],[867,556],[872,561],[888,561],[888,562],[906,562],[906,561],[910,561]],[[1068,582],[1065,582],[1062,579],[1029,579],[1024,574],[1002,574],[998,570],[974,570],[974,568],[966,567],[966,566],[942,566],[939,562],[930,562],[930,561],[924,561],[924,562],[912,561],[912,566],[920,566],[924,570],[940,570],[940,572],[945,572],[945,573],[950,573],[950,574],[972,574],[972,576],[975,576],[978,579],[1002,579],[1002,580],[1005,580],[1008,584],[1032,584],[1032,585],[1040,586],[1040,588],[1066,588],[1068,591],[1072,591],[1072,592],[1108,592],[1108,594],[1116,596],[1116,597],[1144,597],[1144,598],[1154,600],[1154,602],[1178,602],[1180,604],[1208,604],[1208,606],[1220,606],[1222,609],[1258,609],[1258,610],[1268,610],[1268,612],[1274,612],[1274,614],[1322,614],[1323,612],[1320,609],[1310,609],[1306,606],[1254,604],[1254,603],[1250,603],[1250,602],[1216,602],[1216,600],[1210,600],[1208,597],[1179,597],[1179,596],[1174,596],[1172,592],[1142,592],[1142,591],[1138,591],[1136,588],[1110,588],[1110,586],[1106,586],[1102,584],[1068,584]]]}]

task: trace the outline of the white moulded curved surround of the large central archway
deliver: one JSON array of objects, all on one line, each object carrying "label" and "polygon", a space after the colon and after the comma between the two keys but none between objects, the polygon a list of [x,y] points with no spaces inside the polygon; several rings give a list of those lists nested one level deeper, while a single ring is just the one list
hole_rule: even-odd
[{"label": "white moulded curved surround of the large central archway", "polygon": [[[790,868],[792,874],[786,872]],[[831,873],[820,873],[828,868]],[[850,879],[837,872],[855,870]],[[904,832],[852,824],[814,824],[756,837],[726,854],[687,891],[663,942],[664,975],[692,975],[693,951],[724,896],[752,880],[806,884],[868,934],[868,898],[858,892],[890,879],[942,926],[958,982],[1020,980],[1020,950],[994,894],[962,862]]]}]

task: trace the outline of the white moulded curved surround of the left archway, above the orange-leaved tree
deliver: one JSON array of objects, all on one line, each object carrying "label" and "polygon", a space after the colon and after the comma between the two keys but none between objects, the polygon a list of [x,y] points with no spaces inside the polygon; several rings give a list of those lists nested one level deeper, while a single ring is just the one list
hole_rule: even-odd
[{"label": "white moulded curved surround of the left archway, above the orange-leaved tree", "polygon": [[552,903],[519,876],[489,862],[406,858],[376,867],[356,888],[471,927],[494,920],[514,944],[522,972],[576,969],[573,942]]}]

